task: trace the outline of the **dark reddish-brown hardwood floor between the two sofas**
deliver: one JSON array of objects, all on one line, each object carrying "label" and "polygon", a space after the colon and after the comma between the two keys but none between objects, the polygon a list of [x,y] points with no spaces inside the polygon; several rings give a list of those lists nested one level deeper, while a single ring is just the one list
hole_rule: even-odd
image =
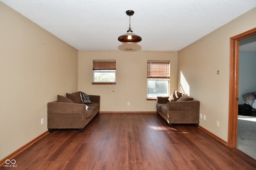
[{"label": "dark reddish-brown hardwood floor between the two sofas", "polygon": [[256,160],[194,125],[157,114],[98,114],[84,128],[56,130],[14,157],[14,170],[253,170]]}]

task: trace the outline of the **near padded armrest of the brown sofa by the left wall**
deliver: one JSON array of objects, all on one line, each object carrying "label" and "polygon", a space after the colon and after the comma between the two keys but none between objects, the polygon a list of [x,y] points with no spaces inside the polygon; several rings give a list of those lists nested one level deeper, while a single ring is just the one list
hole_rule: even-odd
[{"label": "near padded armrest of the brown sofa by the left wall", "polygon": [[76,103],[50,102],[47,104],[48,114],[85,114],[86,105]]}]

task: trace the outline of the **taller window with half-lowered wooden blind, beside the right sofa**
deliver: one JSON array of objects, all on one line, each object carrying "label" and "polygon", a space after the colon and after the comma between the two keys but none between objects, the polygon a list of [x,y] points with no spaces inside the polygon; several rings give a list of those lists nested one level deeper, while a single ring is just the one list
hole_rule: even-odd
[{"label": "taller window with half-lowered wooden blind, beside the right sofa", "polygon": [[148,99],[170,96],[170,61],[148,61]]}]

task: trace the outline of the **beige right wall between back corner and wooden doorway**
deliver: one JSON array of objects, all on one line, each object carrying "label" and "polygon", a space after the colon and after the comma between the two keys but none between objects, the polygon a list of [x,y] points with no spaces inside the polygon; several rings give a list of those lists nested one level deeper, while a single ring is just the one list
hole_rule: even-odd
[{"label": "beige right wall between back corner and wooden doorway", "polygon": [[228,141],[230,37],[256,27],[255,18],[256,8],[178,52],[178,72],[184,74],[190,96],[200,101],[200,113],[206,115],[200,126],[224,141]]}]

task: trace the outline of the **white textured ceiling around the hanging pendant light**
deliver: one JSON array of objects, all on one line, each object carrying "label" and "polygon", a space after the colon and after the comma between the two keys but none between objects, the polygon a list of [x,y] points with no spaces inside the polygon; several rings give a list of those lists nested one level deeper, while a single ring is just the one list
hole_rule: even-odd
[{"label": "white textured ceiling around the hanging pendant light", "polygon": [[[179,51],[256,7],[256,0],[0,0],[78,50]],[[129,16],[142,41],[124,44]]]}]

